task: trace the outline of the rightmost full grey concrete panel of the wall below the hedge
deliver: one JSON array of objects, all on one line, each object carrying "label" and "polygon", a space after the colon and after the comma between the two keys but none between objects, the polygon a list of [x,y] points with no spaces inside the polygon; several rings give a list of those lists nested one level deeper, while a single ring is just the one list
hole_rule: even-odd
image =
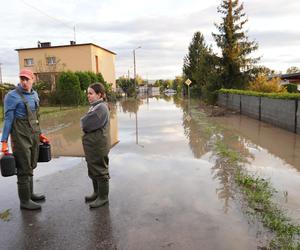
[{"label": "rightmost full grey concrete panel of the wall below the hedge", "polygon": [[294,100],[261,97],[261,121],[294,132],[295,112]]}]

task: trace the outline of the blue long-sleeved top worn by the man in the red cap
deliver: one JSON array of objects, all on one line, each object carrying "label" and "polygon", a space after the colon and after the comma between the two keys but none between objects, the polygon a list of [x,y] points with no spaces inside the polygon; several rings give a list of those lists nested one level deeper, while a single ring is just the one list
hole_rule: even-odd
[{"label": "blue long-sleeved top worn by the man in the red cap", "polygon": [[[30,93],[26,92],[20,84],[18,84],[17,88],[23,93],[30,109],[32,111],[36,111],[40,101],[36,91],[32,90]],[[18,94],[16,89],[9,91],[4,98],[4,126],[1,141],[8,140],[15,118],[26,117],[27,111],[21,96]]]}]

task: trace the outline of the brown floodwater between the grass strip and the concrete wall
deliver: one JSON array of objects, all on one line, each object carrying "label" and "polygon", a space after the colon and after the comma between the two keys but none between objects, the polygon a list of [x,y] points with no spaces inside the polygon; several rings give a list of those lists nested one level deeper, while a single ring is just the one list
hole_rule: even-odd
[{"label": "brown floodwater between the grass strip and the concrete wall", "polygon": [[240,115],[214,121],[239,137],[251,154],[247,170],[271,181],[278,202],[299,223],[300,135]]}]

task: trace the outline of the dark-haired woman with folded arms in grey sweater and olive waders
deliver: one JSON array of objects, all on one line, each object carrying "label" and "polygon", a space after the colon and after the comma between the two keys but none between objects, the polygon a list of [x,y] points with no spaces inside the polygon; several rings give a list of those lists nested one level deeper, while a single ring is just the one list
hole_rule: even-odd
[{"label": "dark-haired woman with folded arms in grey sweater and olive waders", "polygon": [[89,86],[87,97],[90,103],[88,113],[81,118],[84,132],[82,145],[87,161],[88,175],[93,182],[94,192],[85,197],[90,208],[101,207],[108,202],[109,171],[108,153],[110,150],[109,109],[102,84]]}]

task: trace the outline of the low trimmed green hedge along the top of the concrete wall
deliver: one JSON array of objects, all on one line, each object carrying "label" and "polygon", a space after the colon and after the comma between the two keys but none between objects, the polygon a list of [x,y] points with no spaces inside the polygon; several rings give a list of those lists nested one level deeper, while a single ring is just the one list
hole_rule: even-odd
[{"label": "low trimmed green hedge along the top of the concrete wall", "polygon": [[239,89],[220,89],[218,93],[221,94],[237,94],[237,95],[250,95],[250,96],[262,96],[273,99],[291,99],[300,100],[300,94],[296,93],[262,93],[250,90],[239,90]]}]

